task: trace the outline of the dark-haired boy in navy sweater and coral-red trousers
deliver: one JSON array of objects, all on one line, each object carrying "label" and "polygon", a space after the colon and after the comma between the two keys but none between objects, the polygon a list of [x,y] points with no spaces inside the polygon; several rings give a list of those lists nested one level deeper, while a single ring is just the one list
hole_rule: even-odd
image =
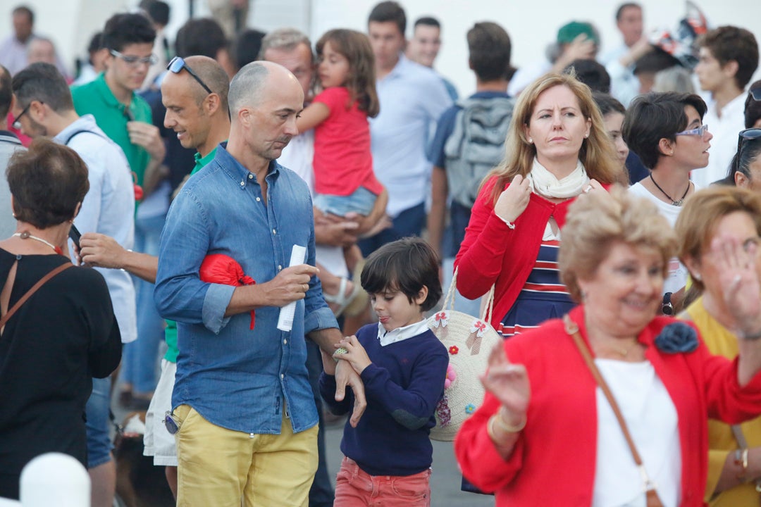
[{"label": "dark-haired boy in navy sweater and coral-red trousers", "polygon": [[[368,257],[361,285],[380,322],[344,338],[333,355],[351,363],[368,398],[357,426],[347,421],[343,431],[345,458],[333,505],[428,506],[433,454],[428,435],[449,363],[447,349],[423,316],[441,298],[438,258],[419,238],[388,243]],[[333,398],[332,375],[320,376],[320,391],[334,414],[345,414],[354,404],[351,391],[343,401]]]}]

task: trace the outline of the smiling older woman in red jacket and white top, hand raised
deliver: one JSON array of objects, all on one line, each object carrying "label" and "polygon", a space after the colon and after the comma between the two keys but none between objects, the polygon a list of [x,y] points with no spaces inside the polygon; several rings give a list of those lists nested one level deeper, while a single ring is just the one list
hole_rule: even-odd
[{"label": "smiling older woman in red jacket and white top, hand raised", "polygon": [[713,356],[692,326],[656,316],[677,241],[655,204],[622,189],[572,204],[559,268],[579,306],[492,350],[486,397],[454,443],[464,476],[498,507],[645,505],[645,490],[662,505],[703,505],[708,417],[761,413],[757,248],[718,238],[710,251],[738,337],[734,362]]}]

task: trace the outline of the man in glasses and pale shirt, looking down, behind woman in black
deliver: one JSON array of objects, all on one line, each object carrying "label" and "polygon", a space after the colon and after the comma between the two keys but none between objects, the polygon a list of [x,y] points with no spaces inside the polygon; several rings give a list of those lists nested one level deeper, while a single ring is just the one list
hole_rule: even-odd
[{"label": "man in glasses and pale shirt, looking down, behind woman in black", "polygon": [[[91,115],[79,116],[63,75],[54,65],[29,65],[13,78],[16,103],[12,108],[17,128],[31,138],[46,136],[76,151],[88,166],[90,190],[82,201],[75,227],[81,232],[113,236],[125,249],[132,248],[135,192],[129,164],[122,149],[103,133]],[[123,343],[137,338],[135,287],[124,271],[102,270],[113,300],[113,311]],[[116,467],[111,455],[110,378],[93,379],[86,406],[88,469],[92,505],[111,505]]]}]

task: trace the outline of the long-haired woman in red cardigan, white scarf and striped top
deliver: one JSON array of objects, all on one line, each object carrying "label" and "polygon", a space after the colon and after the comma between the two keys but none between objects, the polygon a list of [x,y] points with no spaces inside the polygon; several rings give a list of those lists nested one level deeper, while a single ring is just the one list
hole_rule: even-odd
[{"label": "long-haired woman in red cardigan, white scarf and striped top", "polygon": [[495,284],[492,325],[511,337],[572,308],[556,268],[568,204],[626,176],[591,91],[566,74],[521,93],[505,152],[473,205],[455,265],[469,299]]}]

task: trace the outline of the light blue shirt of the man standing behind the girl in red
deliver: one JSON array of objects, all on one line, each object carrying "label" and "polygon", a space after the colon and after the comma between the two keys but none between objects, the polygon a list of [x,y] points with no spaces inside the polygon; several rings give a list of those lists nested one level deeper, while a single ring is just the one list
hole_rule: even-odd
[{"label": "light blue shirt of the man standing behind the girl in red", "polygon": [[425,157],[429,132],[452,99],[430,68],[399,62],[376,84],[380,114],[370,119],[375,176],[388,190],[387,213],[396,217],[428,195],[431,163]]}]

